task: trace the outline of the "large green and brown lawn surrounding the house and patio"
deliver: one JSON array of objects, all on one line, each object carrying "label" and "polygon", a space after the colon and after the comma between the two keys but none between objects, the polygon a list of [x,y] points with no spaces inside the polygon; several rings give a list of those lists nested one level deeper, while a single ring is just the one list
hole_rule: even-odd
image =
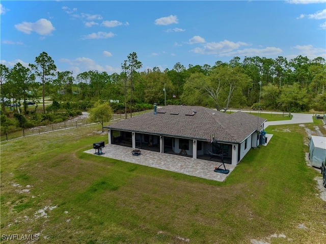
[{"label": "large green and brown lawn surrounding the house and patio", "polygon": [[1,143],[2,235],[39,234],[34,243],[326,242],[320,173],[306,165],[300,126],[268,126],[268,145],[252,149],[225,182],[84,153],[107,142],[98,130]]}]

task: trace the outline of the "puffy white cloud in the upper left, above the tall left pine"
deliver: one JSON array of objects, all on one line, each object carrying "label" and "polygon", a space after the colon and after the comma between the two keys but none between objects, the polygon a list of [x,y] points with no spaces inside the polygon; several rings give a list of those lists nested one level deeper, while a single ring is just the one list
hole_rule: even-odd
[{"label": "puffy white cloud in the upper left, above the tall left pine", "polygon": [[47,19],[39,19],[36,22],[22,22],[20,24],[15,24],[15,28],[23,33],[31,34],[31,32],[36,32],[40,35],[50,35],[52,31],[56,30],[51,21]]}]

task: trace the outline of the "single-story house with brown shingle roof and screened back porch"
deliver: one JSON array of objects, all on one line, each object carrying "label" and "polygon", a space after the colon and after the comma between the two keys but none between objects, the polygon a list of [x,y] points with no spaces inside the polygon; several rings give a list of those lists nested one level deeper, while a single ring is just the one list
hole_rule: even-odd
[{"label": "single-story house with brown shingle roof and screened back porch", "polygon": [[[259,145],[266,119],[247,113],[222,113],[202,106],[168,105],[119,121],[108,129],[108,143],[180,154],[237,165]],[[211,154],[210,154],[211,153]],[[221,158],[220,158],[221,159]]]}]

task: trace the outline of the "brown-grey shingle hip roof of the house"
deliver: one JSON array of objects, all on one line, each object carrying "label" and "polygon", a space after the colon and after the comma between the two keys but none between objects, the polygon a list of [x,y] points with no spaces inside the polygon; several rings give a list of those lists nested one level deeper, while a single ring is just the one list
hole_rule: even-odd
[{"label": "brown-grey shingle hip roof of the house", "polygon": [[[194,111],[196,113],[194,113]],[[202,106],[168,105],[119,121],[109,129],[170,135],[174,137],[241,143],[266,119],[247,113],[222,113]]]}]

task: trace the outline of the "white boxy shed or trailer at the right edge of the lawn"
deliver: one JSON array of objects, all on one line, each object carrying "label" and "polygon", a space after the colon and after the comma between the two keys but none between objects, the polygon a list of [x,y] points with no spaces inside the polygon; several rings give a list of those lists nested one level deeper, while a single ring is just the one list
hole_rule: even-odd
[{"label": "white boxy shed or trailer at the right edge of the lawn", "polygon": [[312,135],[309,142],[309,159],[311,165],[321,167],[321,162],[326,158],[326,137]]}]

